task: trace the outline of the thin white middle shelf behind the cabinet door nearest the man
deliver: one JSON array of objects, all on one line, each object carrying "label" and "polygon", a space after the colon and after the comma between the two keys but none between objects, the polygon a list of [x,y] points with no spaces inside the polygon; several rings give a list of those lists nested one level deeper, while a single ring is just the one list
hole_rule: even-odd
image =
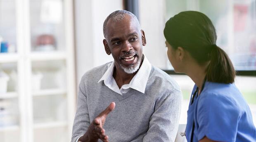
[{"label": "thin white middle shelf behind the cabinet door nearest the man", "polygon": [[60,95],[66,94],[65,89],[45,89],[32,92],[33,96]]}]

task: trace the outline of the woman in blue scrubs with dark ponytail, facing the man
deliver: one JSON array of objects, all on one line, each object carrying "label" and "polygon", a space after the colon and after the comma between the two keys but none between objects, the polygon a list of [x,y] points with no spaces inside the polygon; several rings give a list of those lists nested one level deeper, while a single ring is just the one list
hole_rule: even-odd
[{"label": "woman in blue scrubs with dark ponytail, facing the man", "polygon": [[200,12],[180,12],[166,22],[164,36],[175,72],[195,83],[187,111],[187,141],[256,142],[251,111],[234,84],[232,62],[216,45],[211,20]]}]

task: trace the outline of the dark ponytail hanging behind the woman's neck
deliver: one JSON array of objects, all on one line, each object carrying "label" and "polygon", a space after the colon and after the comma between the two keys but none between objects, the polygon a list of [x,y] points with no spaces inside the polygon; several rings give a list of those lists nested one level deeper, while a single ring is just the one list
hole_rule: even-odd
[{"label": "dark ponytail hanging behind the woman's neck", "polygon": [[206,69],[206,80],[216,83],[234,83],[235,69],[225,51],[213,45],[209,56],[210,64]]}]

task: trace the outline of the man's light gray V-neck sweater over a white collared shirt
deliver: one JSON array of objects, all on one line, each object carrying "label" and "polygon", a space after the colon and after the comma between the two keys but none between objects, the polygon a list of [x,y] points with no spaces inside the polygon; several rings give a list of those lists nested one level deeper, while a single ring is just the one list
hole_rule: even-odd
[{"label": "man's light gray V-neck sweater over a white collared shirt", "polygon": [[145,94],[131,89],[119,95],[103,81],[97,83],[106,70],[104,64],[86,72],[81,79],[71,142],[76,142],[111,102],[116,107],[103,126],[109,142],[174,142],[182,102],[177,83],[152,66]]}]

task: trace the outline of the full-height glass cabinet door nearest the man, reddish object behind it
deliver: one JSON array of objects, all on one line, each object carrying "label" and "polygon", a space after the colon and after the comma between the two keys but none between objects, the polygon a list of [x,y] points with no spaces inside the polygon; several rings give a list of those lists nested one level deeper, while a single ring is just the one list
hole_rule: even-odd
[{"label": "full-height glass cabinet door nearest the man, reddish object behind it", "polygon": [[63,0],[29,0],[34,142],[68,142]]}]

